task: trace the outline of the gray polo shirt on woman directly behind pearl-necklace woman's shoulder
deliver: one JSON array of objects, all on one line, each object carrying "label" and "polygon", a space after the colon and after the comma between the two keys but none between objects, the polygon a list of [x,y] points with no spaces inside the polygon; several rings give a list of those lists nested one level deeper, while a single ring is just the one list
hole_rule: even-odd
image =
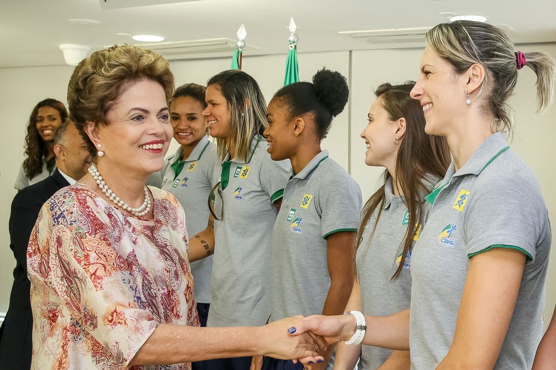
[{"label": "gray polo shirt on woman directly behind pearl-necklace woman's shoulder", "polygon": [[[187,235],[203,231],[209,221],[207,198],[212,189],[214,168],[220,161],[216,154],[216,146],[203,137],[195,146],[189,157],[183,161],[180,173],[172,169],[181,162],[182,148],[166,160],[165,166],[159,173],[162,175],[160,188],[172,193],[180,201],[185,211],[185,225]],[[160,175],[161,174],[161,175]],[[210,278],[212,270],[212,256],[191,262],[193,274],[195,301],[210,303]]]}]

